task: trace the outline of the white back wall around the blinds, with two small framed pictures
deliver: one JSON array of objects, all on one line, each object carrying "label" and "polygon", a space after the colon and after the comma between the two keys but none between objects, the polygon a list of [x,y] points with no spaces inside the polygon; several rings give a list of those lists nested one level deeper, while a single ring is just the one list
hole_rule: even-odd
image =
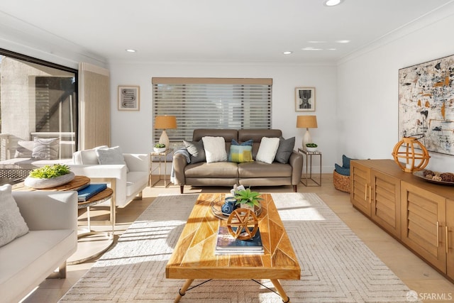
[{"label": "white back wall around the blinds, with two small framed pictures", "polygon": [[[111,62],[111,145],[126,153],[152,150],[152,77],[250,77],[272,78],[272,128],[284,138],[296,136],[301,146],[304,129],[296,128],[299,114],[316,114],[319,127],[311,129],[313,141],[323,154],[323,172],[332,172],[336,158],[336,67],[309,65],[248,65],[208,63]],[[140,111],[118,111],[118,85],[140,85]],[[296,112],[295,87],[316,88],[316,111]],[[318,167],[315,165],[314,167]]]}]

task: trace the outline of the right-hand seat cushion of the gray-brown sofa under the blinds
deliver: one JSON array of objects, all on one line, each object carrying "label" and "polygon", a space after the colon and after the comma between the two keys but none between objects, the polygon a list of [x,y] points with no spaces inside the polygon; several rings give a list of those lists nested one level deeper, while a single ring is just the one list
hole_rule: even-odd
[{"label": "right-hand seat cushion of the gray-brown sofa under the blinds", "polygon": [[238,164],[238,177],[240,179],[290,176],[292,176],[292,166],[289,164],[279,162],[268,164],[260,161]]}]

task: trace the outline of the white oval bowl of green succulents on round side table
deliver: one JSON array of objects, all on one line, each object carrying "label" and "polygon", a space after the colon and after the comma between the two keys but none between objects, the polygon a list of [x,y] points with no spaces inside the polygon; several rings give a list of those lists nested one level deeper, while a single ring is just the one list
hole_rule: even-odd
[{"label": "white oval bowl of green succulents on round side table", "polygon": [[73,179],[74,172],[71,172],[70,167],[67,165],[44,165],[43,167],[32,170],[23,184],[35,189],[45,189],[67,184]]}]

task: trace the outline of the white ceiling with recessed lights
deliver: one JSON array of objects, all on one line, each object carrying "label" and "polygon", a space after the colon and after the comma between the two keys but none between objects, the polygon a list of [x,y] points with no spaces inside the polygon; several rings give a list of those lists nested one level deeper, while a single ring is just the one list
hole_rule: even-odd
[{"label": "white ceiling with recessed lights", "polygon": [[65,45],[106,62],[335,63],[450,2],[4,0],[0,31],[9,37],[0,38]]}]

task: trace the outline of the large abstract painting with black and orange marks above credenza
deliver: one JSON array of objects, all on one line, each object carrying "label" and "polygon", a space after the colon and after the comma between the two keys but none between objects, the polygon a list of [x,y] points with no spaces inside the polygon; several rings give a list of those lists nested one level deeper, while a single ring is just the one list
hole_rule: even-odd
[{"label": "large abstract painting with black and orange marks above credenza", "polygon": [[399,138],[454,155],[454,55],[399,70]]}]

